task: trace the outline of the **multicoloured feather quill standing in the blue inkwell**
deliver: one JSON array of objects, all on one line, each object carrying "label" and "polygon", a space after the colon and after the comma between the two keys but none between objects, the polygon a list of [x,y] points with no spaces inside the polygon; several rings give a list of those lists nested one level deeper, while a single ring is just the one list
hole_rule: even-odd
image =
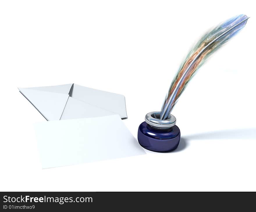
[{"label": "multicoloured feather quill standing in the blue inkwell", "polygon": [[205,34],[189,52],[168,90],[160,118],[166,119],[197,69],[214,51],[232,38],[245,25],[249,17],[239,15]]}]

